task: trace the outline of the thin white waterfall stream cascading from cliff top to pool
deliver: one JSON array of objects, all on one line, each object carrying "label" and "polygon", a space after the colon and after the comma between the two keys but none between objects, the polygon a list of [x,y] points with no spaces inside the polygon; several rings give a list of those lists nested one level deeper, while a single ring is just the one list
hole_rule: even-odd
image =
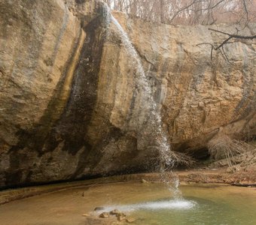
[{"label": "thin white waterfall stream cascading from cliff top to pool", "polygon": [[[172,179],[170,180],[169,173],[166,172],[166,170],[172,168],[174,164],[171,156],[172,151],[167,141],[166,134],[163,131],[160,107],[157,107],[157,104],[154,101],[153,91],[149,86],[139,54],[136,52],[136,49],[131,43],[128,34],[126,34],[126,31],[123,30],[120,23],[118,23],[111,13],[110,22],[114,23],[114,26],[116,26],[122,44],[125,46],[126,51],[128,51],[130,55],[130,61],[132,61],[134,67],[136,68],[135,79],[137,92],[139,93],[139,95],[136,95],[136,101],[137,105],[143,107],[143,110],[139,110],[139,113],[135,113],[133,115],[133,119],[130,121],[130,126],[133,127],[133,125],[136,124],[137,132],[144,133],[145,135],[141,136],[140,138],[143,139],[143,142],[145,142],[145,139],[147,139],[146,142],[151,142],[150,147],[152,146],[152,142],[154,142],[154,148],[156,148],[160,154],[160,165],[158,166],[158,169],[160,171],[161,178],[163,182],[167,184],[169,190],[172,191],[174,197],[176,199],[181,198],[181,193],[178,190],[178,176],[172,174]],[[143,122],[138,123],[138,119]],[[148,130],[151,130],[152,132],[148,132]]]}]

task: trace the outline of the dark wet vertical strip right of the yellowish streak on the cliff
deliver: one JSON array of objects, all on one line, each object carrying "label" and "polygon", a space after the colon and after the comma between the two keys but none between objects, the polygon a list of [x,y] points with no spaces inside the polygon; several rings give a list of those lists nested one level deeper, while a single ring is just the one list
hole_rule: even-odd
[{"label": "dark wet vertical strip right of the yellowish streak on the cliff", "polygon": [[56,126],[56,132],[61,139],[65,139],[63,149],[73,155],[82,147],[89,146],[85,135],[97,98],[98,74],[105,37],[102,26],[102,18],[97,17],[84,28],[87,39],[75,72],[69,103]]}]

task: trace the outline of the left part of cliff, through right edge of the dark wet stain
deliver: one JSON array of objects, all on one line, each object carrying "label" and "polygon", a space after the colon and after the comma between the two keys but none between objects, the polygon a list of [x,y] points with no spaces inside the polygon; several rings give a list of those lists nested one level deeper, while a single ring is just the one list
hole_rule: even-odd
[{"label": "left part of cliff, through right edge of the dark wet stain", "polygon": [[72,3],[0,2],[1,186],[72,178],[87,151],[83,123],[96,101],[105,9]]}]

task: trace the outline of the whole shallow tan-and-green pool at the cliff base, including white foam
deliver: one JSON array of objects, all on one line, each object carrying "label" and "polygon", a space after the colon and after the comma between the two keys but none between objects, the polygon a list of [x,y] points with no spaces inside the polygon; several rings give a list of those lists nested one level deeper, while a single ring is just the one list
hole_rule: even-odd
[{"label": "whole shallow tan-and-green pool at the cliff base, including white foam", "polygon": [[172,199],[165,184],[96,184],[62,190],[0,205],[0,224],[86,224],[82,214],[97,206],[126,211],[137,219],[134,224],[142,225],[256,224],[254,188],[190,184],[180,189],[183,199]]}]

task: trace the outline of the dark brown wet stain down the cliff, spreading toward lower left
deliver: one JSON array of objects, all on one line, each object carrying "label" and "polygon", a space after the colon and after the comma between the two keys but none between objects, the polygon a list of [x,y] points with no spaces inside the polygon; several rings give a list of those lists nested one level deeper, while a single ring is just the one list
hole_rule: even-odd
[{"label": "dark brown wet stain down the cliff, spreading toward lower left", "polygon": [[[10,150],[10,154],[15,154],[15,162],[11,165],[16,166],[17,170],[11,168],[6,171],[5,177],[8,177],[6,186],[20,185],[24,182],[32,183],[29,178],[32,172],[24,174],[22,169],[19,169],[22,163],[18,154],[20,149],[26,148],[26,151],[37,151],[38,157],[41,157],[49,151],[54,151],[63,140],[62,151],[69,151],[70,157],[84,148],[75,175],[83,171],[87,154],[92,149],[85,139],[85,134],[96,104],[99,65],[102,58],[105,31],[108,26],[105,21],[104,10],[98,9],[98,16],[94,17],[90,23],[84,23],[86,26],[83,29],[87,36],[81,49],[72,81],[72,91],[66,104],[63,104],[60,95],[66,79],[65,74],[56,86],[56,93],[39,123],[32,130],[18,131],[20,142]],[[76,49],[76,47],[74,46],[73,49]],[[74,52],[72,55],[74,55]],[[72,58],[66,64],[66,71],[71,61]],[[31,165],[28,163],[26,170],[32,168],[33,163],[31,162]],[[24,175],[26,178],[24,178]]]}]

